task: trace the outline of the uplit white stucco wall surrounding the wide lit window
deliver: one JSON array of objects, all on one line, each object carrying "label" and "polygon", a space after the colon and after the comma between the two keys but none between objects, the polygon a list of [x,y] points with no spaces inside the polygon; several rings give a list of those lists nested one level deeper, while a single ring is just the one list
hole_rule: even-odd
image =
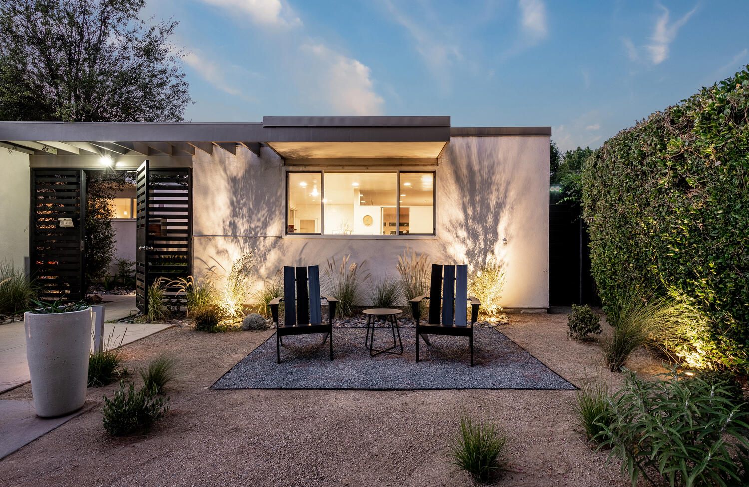
[{"label": "uplit white stucco wall surrounding the wide lit window", "polygon": [[284,167],[268,148],[261,156],[241,147],[236,157],[196,152],[195,274],[209,267],[226,273],[253,248],[260,277],[284,264],[322,268],[327,258],[340,262],[346,254],[366,260],[375,277],[397,276],[406,246],[446,264],[472,264],[493,253],[506,271],[502,306],[548,307],[548,136],[454,137],[437,167],[437,235],[425,238],[284,236]]}]

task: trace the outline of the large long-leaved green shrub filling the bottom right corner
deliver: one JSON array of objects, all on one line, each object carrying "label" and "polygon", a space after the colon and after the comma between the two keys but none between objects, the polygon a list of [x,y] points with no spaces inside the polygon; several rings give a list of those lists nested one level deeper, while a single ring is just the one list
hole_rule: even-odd
[{"label": "large long-leaved green shrub filling the bottom right corner", "polygon": [[598,435],[612,448],[608,459],[622,459],[632,486],[640,475],[653,485],[746,485],[748,414],[731,404],[723,385],[682,380],[676,366],[662,381],[628,369],[624,376],[611,399],[613,420]]}]

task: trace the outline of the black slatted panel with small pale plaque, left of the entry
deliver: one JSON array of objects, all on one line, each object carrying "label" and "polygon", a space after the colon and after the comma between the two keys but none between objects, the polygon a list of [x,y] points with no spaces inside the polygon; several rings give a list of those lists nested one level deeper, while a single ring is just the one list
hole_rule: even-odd
[{"label": "black slatted panel with small pale plaque, left of the entry", "polygon": [[86,175],[79,169],[31,170],[31,272],[40,300],[82,300]]}]

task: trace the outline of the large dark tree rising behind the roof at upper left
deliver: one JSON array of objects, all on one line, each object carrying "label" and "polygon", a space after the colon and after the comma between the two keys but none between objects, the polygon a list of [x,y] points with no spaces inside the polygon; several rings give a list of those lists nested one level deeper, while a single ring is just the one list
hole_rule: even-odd
[{"label": "large dark tree rising behind the roof at upper left", "polygon": [[[4,0],[0,119],[181,121],[190,98],[177,22],[139,18],[145,0]],[[151,21],[152,19],[148,19]]]}]

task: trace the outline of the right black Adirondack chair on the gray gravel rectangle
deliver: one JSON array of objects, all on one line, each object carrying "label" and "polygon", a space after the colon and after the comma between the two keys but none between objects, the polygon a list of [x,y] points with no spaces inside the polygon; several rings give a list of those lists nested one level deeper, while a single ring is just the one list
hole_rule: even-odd
[{"label": "right black Adirondack chair on the gray gravel rectangle", "polygon": [[[422,323],[419,303],[425,299],[429,300],[429,320]],[[467,322],[469,301],[470,324]],[[431,345],[428,335],[468,336],[470,366],[473,367],[473,325],[479,318],[481,301],[468,295],[468,266],[432,264],[429,295],[415,297],[410,303],[416,318],[416,362],[419,361],[419,338]]]}]

